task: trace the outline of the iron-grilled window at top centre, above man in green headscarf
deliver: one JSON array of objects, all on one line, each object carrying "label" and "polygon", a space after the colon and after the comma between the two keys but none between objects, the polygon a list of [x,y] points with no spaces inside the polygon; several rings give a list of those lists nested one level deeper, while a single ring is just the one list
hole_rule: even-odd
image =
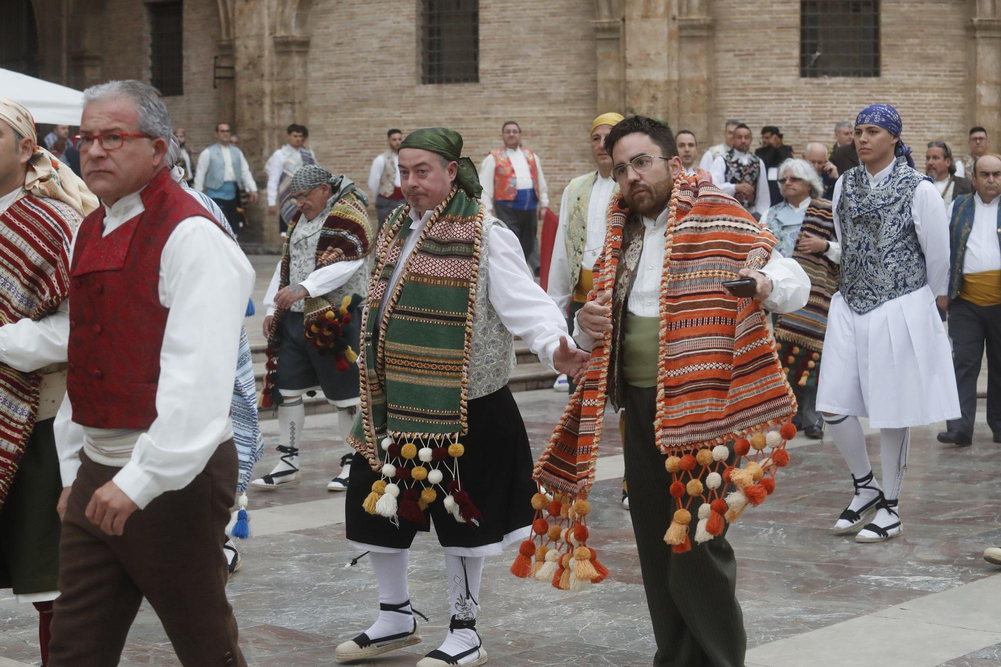
[{"label": "iron-grilled window at top centre, above man in green headscarf", "polygon": [[421,0],[421,9],[420,82],[478,82],[478,0]]}]

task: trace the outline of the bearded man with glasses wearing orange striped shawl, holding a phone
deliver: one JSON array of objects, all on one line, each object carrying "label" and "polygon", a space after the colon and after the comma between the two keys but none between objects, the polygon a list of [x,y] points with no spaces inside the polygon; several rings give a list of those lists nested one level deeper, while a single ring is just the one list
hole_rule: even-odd
[{"label": "bearded man with glasses wearing orange striped shawl, holding a phone", "polygon": [[[666,125],[627,118],[609,132],[605,148],[622,192],[609,207],[595,288],[577,316],[575,339],[593,351],[591,362],[536,479],[547,489],[586,494],[590,466],[566,453],[588,449],[585,437],[602,433],[605,396],[616,410],[625,407],[626,477],[657,639],[654,664],[743,667],[747,637],[733,549],[724,533],[706,539],[694,520],[691,531],[677,535],[673,494],[681,486],[685,495],[686,486],[672,484],[677,457],[666,454],[701,450],[703,472],[688,486],[701,495],[703,485],[720,486],[706,464],[733,459],[726,447],[708,462],[702,452],[792,418],[796,403],[763,308],[803,307],[810,280],[796,260],[774,250],[775,236],[737,200],[684,173]],[[738,276],[753,281],[750,295],[724,287]],[[694,516],[704,503],[692,503]]]}]

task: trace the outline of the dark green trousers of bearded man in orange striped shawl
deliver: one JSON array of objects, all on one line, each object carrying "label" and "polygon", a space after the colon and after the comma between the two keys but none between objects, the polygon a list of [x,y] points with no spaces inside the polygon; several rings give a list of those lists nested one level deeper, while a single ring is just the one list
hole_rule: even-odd
[{"label": "dark green trousers of bearded man in orange striped shawl", "polygon": [[689,508],[692,551],[664,542],[674,499],[665,456],[654,440],[657,388],[626,389],[626,477],[643,586],[657,639],[655,665],[744,667],[747,634],[737,602],[737,563],[723,535],[696,544],[699,506]]}]

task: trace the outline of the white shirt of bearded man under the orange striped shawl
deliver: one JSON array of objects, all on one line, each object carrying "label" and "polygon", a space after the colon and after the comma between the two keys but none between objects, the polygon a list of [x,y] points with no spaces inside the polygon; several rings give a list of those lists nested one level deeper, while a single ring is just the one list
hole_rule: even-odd
[{"label": "white shirt of bearded man under the orange striped shawl", "polygon": [[[626,308],[641,317],[661,316],[661,276],[664,272],[664,250],[667,243],[665,232],[668,228],[668,214],[665,208],[657,219],[643,218],[643,251],[633,275]],[[761,302],[762,307],[772,312],[793,312],[807,304],[810,298],[810,278],[799,262],[783,257],[773,250],[768,263],[761,272],[772,279],[772,293]],[[594,348],[595,340],[574,327],[574,339],[585,350]]]}]

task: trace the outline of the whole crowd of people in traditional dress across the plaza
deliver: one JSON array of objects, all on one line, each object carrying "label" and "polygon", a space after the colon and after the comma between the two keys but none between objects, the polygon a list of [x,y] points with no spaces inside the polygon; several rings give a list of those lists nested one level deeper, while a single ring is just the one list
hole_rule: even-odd
[{"label": "whole crowd of people in traditional dress across the plaza", "polygon": [[[418,667],[487,662],[483,563],[511,545],[516,576],[573,591],[608,576],[587,517],[609,403],[665,665],[744,664],[726,532],[776,491],[798,431],[831,434],[852,485],[831,532],[860,543],[903,532],[911,428],[972,444],[985,347],[1001,442],[1001,156],[983,128],[968,160],[931,142],[924,172],[886,104],[802,157],[774,125],[752,152],[737,120],[705,151],[641,115],[585,129],[595,168],[564,190],[546,262],[548,187],[518,122],[478,167],[452,129],[389,129],[367,191],[289,125],[265,165],[285,241],[258,399],[237,243],[257,186],[231,127],[192,160],[154,88],[112,81],[84,92],[77,135],[39,143],[0,99],[0,253],[22,266],[0,290],[0,585],[38,609],[43,664],[116,664],[143,599],[182,664],[246,664],[232,538],[248,487],[301,481],[310,392],[336,410],[327,489],[377,588],[339,662],[422,641],[408,554],[432,523],[451,618]],[[75,151],[82,178],[47,146]],[[570,390],[535,466],[508,387],[516,339]],[[258,406],[277,410],[280,457],[252,479]],[[861,418],[880,430],[879,482]]]}]

